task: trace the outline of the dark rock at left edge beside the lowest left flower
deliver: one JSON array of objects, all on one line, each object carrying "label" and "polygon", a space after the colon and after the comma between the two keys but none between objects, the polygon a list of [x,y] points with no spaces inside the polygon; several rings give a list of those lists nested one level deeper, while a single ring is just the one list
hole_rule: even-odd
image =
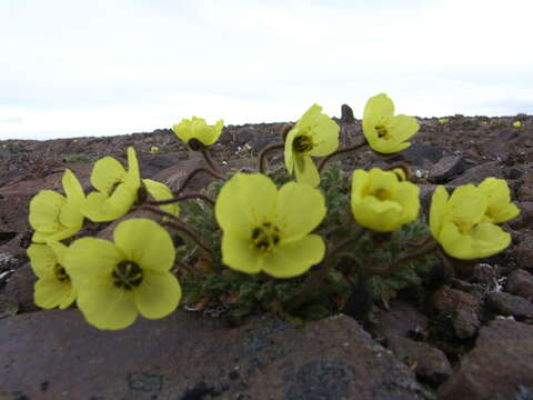
[{"label": "dark rock at left edge beside the lowest left flower", "polygon": [[39,311],[33,302],[33,286],[38,278],[30,263],[19,268],[6,283],[4,294],[19,304],[21,312]]}]

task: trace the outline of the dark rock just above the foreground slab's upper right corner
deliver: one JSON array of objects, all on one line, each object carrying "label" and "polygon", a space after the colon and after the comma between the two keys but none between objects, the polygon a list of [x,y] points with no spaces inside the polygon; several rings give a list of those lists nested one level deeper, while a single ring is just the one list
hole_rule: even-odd
[{"label": "dark rock just above the foreground slab's upper right corner", "polygon": [[428,318],[405,301],[391,302],[389,310],[379,316],[374,329],[375,336],[385,339],[394,337],[406,338],[428,329]]}]

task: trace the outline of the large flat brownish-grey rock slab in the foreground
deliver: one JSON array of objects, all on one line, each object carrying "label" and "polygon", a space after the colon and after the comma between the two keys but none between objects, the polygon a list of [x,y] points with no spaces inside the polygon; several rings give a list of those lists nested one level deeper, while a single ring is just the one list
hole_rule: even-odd
[{"label": "large flat brownish-grey rock slab in the foreground", "polygon": [[19,398],[423,399],[413,372],[348,317],[228,329],[177,311],[110,332],[51,310],[0,320],[0,342],[1,392]]}]

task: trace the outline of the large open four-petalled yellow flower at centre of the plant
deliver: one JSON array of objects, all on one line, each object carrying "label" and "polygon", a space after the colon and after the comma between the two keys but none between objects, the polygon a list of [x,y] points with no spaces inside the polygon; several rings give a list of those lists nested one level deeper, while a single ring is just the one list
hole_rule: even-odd
[{"label": "large open four-petalled yellow flower at centre of the plant", "polygon": [[318,234],[309,234],[325,216],[322,193],[289,182],[279,191],[265,176],[238,173],[220,191],[214,208],[223,230],[222,261],[247,272],[292,278],[324,257]]}]

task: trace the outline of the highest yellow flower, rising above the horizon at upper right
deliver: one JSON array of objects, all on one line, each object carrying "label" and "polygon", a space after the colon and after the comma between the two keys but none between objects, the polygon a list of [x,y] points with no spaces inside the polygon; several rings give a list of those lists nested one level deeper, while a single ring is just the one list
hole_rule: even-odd
[{"label": "highest yellow flower, rising above the horizon at upper right", "polygon": [[402,151],[411,146],[405,140],[418,131],[416,119],[394,116],[394,103],[385,93],[374,96],[366,102],[363,133],[372,150],[385,154]]}]

